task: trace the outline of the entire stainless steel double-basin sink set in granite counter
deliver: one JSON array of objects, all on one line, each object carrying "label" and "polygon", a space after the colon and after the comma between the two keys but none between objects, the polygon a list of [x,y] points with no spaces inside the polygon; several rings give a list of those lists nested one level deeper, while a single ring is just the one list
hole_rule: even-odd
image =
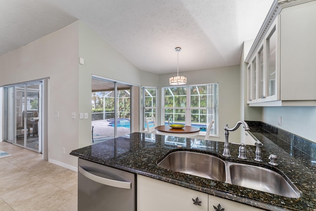
[{"label": "entire stainless steel double-basin sink set in granite counter", "polygon": [[262,167],[223,161],[208,154],[175,151],[158,166],[288,198],[300,197],[300,191],[285,175]]}]

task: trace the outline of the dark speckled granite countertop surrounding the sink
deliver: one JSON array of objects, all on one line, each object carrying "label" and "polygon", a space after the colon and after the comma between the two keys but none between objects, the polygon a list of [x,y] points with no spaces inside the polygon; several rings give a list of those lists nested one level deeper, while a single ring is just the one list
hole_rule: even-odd
[{"label": "dark speckled granite countertop surrounding the sink", "polygon": [[[240,160],[237,158],[239,147],[237,144],[230,143],[232,157],[225,158],[222,156],[223,142],[139,132],[83,147],[70,154],[91,162],[146,175],[263,210],[316,211],[316,151],[311,150],[312,154],[309,155],[294,147],[295,143],[297,144],[295,140],[290,143],[282,140],[288,134],[280,132],[282,137],[279,137],[280,135],[276,135],[275,131],[268,132],[267,128],[256,123],[248,124],[252,134],[264,145],[262,147],[263,162],[261,163],[254,161],[255,146],[246,146],[247,160]],[[178,145],[182,147],[179,148]],[[314,144],[311,147],[315,147]],[[261,166],[281,174],[283,172],[302,192],[301,197],[282,197],[157,166],[157,162],[168,152],[178,150],[202,152],[215,155],[224,161]],[[278,166],[268,165],[270,154],[277,155]]]}]

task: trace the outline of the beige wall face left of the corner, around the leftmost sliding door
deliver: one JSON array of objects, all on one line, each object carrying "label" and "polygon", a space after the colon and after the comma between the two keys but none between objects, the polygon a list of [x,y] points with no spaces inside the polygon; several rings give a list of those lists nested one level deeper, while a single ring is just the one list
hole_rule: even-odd
[{"label": "beige wall face left of the corner, around the leftmost sliding door", "polygon": [[69,153],[78,148],[79,136],[78,119],[71,119],[72,112],[78,113],[78,40],[78,23],[74,23],[0,56],[0,85],[50,78],[48,158],[70,166],[77,165]]}]

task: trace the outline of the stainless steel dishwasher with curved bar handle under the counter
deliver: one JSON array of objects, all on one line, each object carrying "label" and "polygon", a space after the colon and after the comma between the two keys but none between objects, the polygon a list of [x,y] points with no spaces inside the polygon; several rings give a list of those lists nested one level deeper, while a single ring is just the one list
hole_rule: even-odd
[{"label": "stainless steel dishwasher with curved bar handle under the counter", "polygon": [[79,158],[78,211],[135,211],[135,174]]}]

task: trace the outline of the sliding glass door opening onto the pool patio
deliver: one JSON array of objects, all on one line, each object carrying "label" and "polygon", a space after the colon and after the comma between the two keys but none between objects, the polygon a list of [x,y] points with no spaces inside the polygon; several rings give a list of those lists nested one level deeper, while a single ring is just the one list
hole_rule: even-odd
[{"label": "sliding glass door opening onto the pool patio", "polygon": [[130,133],[131,85],[92,78],[92,142]]}]

